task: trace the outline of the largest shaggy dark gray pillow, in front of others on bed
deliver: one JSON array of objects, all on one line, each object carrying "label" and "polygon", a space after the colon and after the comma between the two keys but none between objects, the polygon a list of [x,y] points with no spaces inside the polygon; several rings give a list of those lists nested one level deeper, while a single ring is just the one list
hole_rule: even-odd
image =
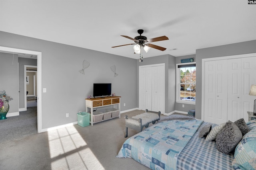
[{"label": "largest shaggy dark gray pillow, in front of others on bed", "polygon": [[234,154],[236,145],[241,141],[242,133],[232,121],[228,121],[216,137],[217,149],[224,154]]}]

